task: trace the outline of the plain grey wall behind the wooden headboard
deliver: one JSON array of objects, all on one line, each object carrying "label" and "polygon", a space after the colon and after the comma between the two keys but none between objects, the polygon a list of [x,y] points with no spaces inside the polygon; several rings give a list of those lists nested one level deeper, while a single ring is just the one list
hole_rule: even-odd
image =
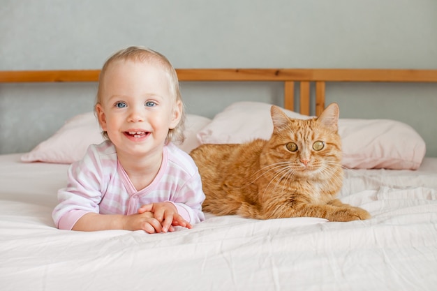
[{"label": "plain grey wall behind the wooden headboard", "polygon": [[[436,31],[435,0],[0,0],[0,70],[101,68],[128,45],[176,68],[436,69]],[[1,84],[0,154],[29,151],[92,110],[95,91]],[[282,88],[184,83],[182,94],[189,113],[213,117],[235,100],[280,104]],[[410,124],[437,156],[436,84],[332,84],[327,94],[341,117]]]}]

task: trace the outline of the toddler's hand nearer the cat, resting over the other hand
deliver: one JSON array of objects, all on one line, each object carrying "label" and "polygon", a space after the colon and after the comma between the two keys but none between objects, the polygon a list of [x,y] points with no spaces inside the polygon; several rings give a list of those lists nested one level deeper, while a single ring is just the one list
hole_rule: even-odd
[{"label": "toddler's hand nearer the cat, resting over the other hand", "polygon": [[186,228],[191,228],[191,224],[188,223],[181,215],[177,213],[177,209],[171,202],[157,202],[142,205],[138,209],[138,214],[142,214],[150,211],[154,214],[154,218],[159,221],[162,225],[163,232],[172,232],[174,230],[173,226],[182,226]]}]

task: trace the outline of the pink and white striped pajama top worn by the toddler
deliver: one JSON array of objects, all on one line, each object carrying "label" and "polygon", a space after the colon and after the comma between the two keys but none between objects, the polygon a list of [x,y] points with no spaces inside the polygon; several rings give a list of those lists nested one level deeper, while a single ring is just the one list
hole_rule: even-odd
[{"label": "pink and white striped pajama top worn by the toddler", "polygon": [[71,230],[88,212],[135,214],[144,204],[164,201],[173,202],[191,224],[205,219],[205,194],[198,167],[191,156],[171,142],[163,149],[163,161],[154,181],[140,191],[118,162],[112,142],[92,144],[84,158],[69,167],[68,183],[59,190],[58,200],[53,220],[64,230]]}]

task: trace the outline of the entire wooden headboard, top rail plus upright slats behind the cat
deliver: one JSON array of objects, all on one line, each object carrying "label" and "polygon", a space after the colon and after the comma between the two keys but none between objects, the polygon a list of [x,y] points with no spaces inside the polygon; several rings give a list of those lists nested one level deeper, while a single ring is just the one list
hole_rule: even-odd
[{"label": "entire wooden headboard, top rail plus upright slats behind the cat", "polygon": [[[97,82],[100,70],[0,71],[0,83],[11,82]],[[437,70],[404,69],[288,69],[288,68],[195,68],[177,69],[179,81],[269,81],[283,82],[284,107],[310,113],[311,83],[316,87],[315,112],[325,108],[329,82],[437,82]],[[295,83],[299,82],[299,110],[295,110]]]}]

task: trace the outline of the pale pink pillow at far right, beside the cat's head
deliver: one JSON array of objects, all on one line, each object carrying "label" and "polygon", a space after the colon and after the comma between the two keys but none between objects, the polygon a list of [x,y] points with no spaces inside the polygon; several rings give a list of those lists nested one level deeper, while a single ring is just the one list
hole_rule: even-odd
[{"label": "pale pink pillow at far right, beside the cat's head", "polygon": [[390,119],[340,119],[344,166],[416,170],[427,147],[408,124]]}]

